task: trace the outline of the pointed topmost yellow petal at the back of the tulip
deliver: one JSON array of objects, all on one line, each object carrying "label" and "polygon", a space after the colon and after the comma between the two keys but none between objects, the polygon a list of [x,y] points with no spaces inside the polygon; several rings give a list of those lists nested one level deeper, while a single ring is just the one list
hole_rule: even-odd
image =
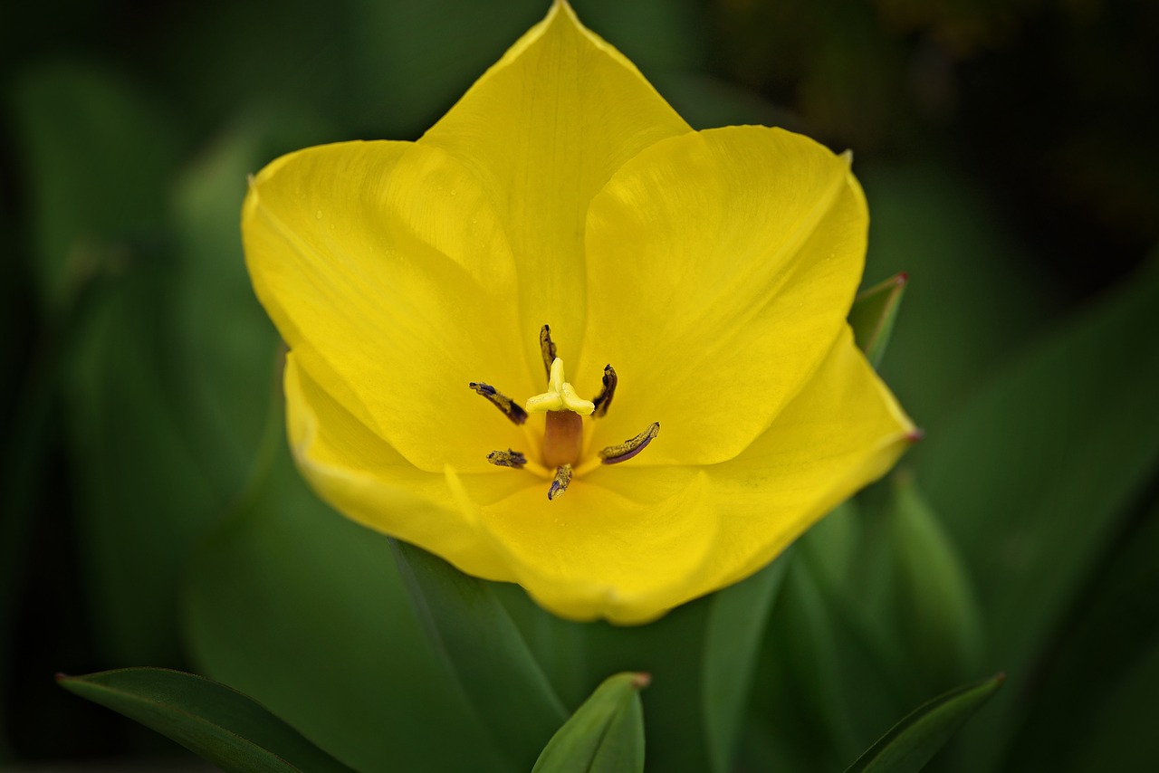
[{"label": "pointed topmost yellow petal at the back of the tulip", "polygon": [[630,61],[556,2],[420,140],[462,161],[502,213],[531,367],[541,367],[534,335],[545,323],[564,358],[580,350],[588,203],[642,148],[688,131]]}]

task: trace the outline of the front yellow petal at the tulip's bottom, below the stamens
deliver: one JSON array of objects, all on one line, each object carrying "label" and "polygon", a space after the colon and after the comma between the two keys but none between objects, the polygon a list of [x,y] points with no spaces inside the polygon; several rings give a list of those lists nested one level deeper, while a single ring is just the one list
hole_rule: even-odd
[{"label": "front yellow petal at the tulip's bottom, below the stamens", "polygon": [[522,489],[475,517],[510,579],[544,607],[573,620],[647,622],[694,593],[716,512],[704,473],[640,472],[657,486],[613,490],[603,486],[611,471],[598,471],[552,502],[542,487]]}]

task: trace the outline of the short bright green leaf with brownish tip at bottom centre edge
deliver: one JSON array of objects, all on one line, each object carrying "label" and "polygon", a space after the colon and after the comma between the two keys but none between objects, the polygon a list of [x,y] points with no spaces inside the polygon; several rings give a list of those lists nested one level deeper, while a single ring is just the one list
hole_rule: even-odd
[{"label": "short bright green leaf with brownish tip at bottom centre edge", "polygon": [[644,770],[644,717],[640,690],[646,673],[604,680],[552,736],[532,773],[632,773]]}]

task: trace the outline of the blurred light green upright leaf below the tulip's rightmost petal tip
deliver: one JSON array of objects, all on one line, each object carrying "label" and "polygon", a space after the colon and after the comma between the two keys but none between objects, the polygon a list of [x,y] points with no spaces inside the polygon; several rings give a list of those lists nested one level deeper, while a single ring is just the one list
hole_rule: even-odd
[{"label": "blurred light green upright leaf below the tulip's rightmost petal tip", "polygon": [[[925,685],[977,672],[981,611],[962,561],[913,481],[894,476],[889,504],[898,635]],[[928,694],[928,693],[927,693]]]}]

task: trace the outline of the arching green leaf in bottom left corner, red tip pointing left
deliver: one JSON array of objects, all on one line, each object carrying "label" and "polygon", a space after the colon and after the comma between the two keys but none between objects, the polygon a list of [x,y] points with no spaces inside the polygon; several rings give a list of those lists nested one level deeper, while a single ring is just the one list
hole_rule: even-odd
[{"label": "arching green leaf in bottom left corner, red tip pointing left", "polygon": [[58,684],[173,738],[225,771],[350,773],[252,698],[191,673],[121,669]]}]

